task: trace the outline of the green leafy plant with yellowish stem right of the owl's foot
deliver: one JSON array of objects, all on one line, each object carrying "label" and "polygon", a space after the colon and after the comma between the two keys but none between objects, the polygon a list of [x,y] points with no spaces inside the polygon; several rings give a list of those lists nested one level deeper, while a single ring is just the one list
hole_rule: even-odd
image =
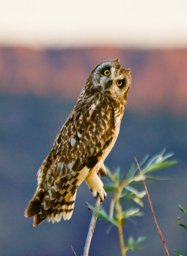
[{"label": "green leafy plant with yellowish stem right of the owl's foot", "polygon": [[[150,172],[164,169],[177,163],[175,160],[168,160],[169,157],[173,156],[173,153],[164,155],[165,150],[166,149],[163,149],[159,154],[151,157],[148,161],[148,155],[146,155],[139,163],[139,166],[142,166],[141,170],[139,166],[132,164],[125,179],[123,179],[120,167],[117,167],[114,173],[106,168],[109,181],[107,185],[104,186],[104,189],[106,192],[114,193],[114,197],[110,202],[109,213],[107,213],[103,207],[101,207],[100,210],[96,210],[95,207],[87,204],[89,209],[91,209],[95,215],[98,215],[101,220],[105,220],[111,224],[110,228],[112,226],[118,228],[122,256],[125,256],[128,250],[140,249],[141,247],[139,247],[138,244],[145,240],[145,236],[138,237],[137,240],[134,240],[134,238],[130,236],[127,245],[125,246],[124,244],[122,227],[126,225],[126,220],[131,220],[135,216],[143,215],[143,212],[141,212],[138,207],[132,206],[132,202],[143,207],[144,204],[142,198],[146,195],[146,190],[138,191],[133,186],[143,185],[142,181],[146,179],[168,180],[155,178],[149,175]],[[140,172],[138,172],[138,168]]]}]

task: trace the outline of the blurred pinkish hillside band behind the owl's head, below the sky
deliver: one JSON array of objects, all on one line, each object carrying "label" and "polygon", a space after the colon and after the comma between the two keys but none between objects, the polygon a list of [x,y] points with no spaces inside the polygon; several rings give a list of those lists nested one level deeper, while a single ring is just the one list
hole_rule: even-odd
[{"label": "blurred pinkish hillside band behind the owl's head, below the sky", "polygon": [[0,93],[60,96],[76,100],[91,70],[107,59],[131,68],[128,105],[134,110],[187,111],[187,50],[120,48],[37,51],[0,48]]}]

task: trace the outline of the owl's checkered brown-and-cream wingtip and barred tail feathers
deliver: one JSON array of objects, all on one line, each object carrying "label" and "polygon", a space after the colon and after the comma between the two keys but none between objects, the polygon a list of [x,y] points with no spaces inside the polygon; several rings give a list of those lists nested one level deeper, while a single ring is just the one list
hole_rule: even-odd
[{"label": "owl's checkered brown-and-cream wingtip and barred tail feathers", "polygon": [[25,211],[25,217],[34,216],[34,227],[47,217],[48,221],[53,223],[59,222],[62,216],[64,220],[69,220],[73,213],[77,188],[85,180],[88,172],[89,168],[85,166],[80,172],[71,175],[70,179],[65,177],[63,184],[60,180],[59,184],[56,181],[47,191],[40,187],[40,184]]}]

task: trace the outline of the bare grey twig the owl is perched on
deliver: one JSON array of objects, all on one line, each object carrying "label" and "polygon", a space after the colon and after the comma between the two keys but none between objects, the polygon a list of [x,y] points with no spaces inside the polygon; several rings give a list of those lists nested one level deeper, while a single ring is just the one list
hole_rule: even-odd
[{"label": "bare grey twig the owl is perched on", "polygon": [[[98,176],[100,177],[100,172],[98,173]],[[101,198],[98,195],[96,203],[95,203],[95,208],[96,208],[97,211],[99,211],[100,206],[101,206]],[[89,226],[89,229],[88,229],[88,234],[87,234],[87,237],[86,237],[86,243],[85,243],[83,256],[88,256],[88,252],[89,252],[92,236],[93,236],[93,233],[94,233],[96,220],[97,220],[97,214],[95,212],[93,212],[92,219],[90,221],[90,226]]]}]

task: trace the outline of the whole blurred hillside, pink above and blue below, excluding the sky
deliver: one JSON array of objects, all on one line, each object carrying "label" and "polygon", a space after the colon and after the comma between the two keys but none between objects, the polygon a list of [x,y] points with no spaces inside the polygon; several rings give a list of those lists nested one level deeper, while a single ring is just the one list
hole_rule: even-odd
[{"label": "whole blurred hillside, pink above and blue below, excluding the sky", "polygon": [[[134,156],[140,161],[166,147],[179,164],[155,174],[170,181],[148,186],[153,208],[170,255],[187,255],[186,230],[178,226],[187,209],[187,50],[140,51],[117,48],[35,51],[0,48],[0,255],[82,255],[92,212],[85,202],[95,199],[85,182],[78,189],[71,220],[36,228],[24,210],[37,186],[36,173],[57,133],[71,112],[90,71],[101,61],[119,58],[131,68],[132,86],[119,137],[105,160],[126,175]],[[105,180],[105,178],[102,178]],[[137,188],[139,191],[142,187]],[[111,195],[103,202],[109,209]],[[164,249],[144,198],[145,216],[137,225],[127,222],[125,241],[146,235],[145,250],[135,256],[163,256]],[[134,204],[136,207],[137,205]],[[185,221],[185,220],[184,220]],[[118,234],[97,221],[90,248],[92,255],[120,255]],[[76,232],[75,232],[76,230]]]}]

